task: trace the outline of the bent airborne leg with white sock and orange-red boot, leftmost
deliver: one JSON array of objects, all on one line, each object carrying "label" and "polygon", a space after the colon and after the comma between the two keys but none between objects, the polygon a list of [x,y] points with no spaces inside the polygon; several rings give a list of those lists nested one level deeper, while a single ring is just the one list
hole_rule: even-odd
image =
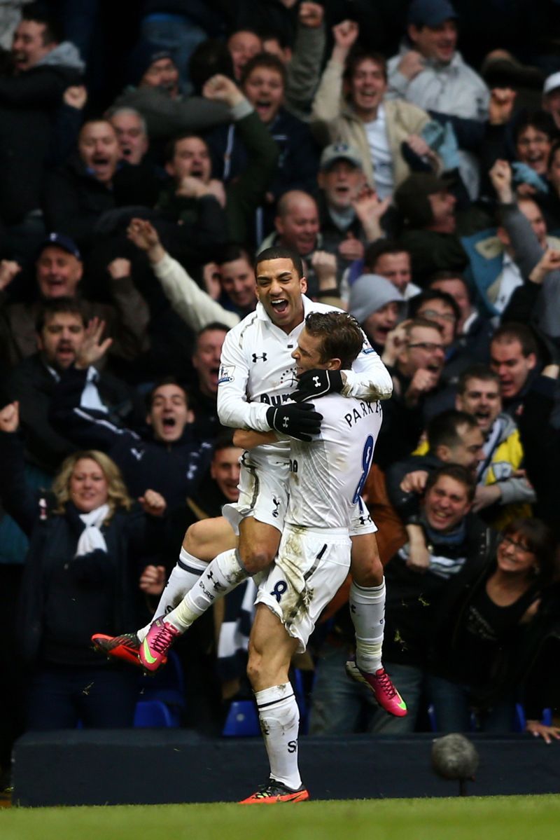
[{"label": "bent airborne leg with white sock and orange-red boot, leftmost", "polygon": [[[233,549],[236,543],[237,537],[225,517],[201,519],[187,528],[179,559],[171,570],[154,615],[164,616],[170,612],[196,584],[210,560],[221,552]],[[92,642],[107,656],[139,665],[140,644],[148,635],[151,623],[133,633],[123,633],[120,636],[94,633]]]}]

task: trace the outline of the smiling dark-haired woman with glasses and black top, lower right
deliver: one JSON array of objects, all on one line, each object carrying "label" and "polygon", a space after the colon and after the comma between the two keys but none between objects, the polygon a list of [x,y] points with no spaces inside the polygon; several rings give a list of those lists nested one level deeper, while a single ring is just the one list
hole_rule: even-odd
[{"label": "smiling dark-haired woman with glasses and black top, lower right", "polygon": [[[486,732],[514,728],[521,684],[536,679],[536,651],[548,633],[539,612],[554,571],[552,531],[538,519],[520,518],[507,525],[488,564],[474,569],[460,591],[449,587],[433,634],[428,682],[438,730],[468,731],[473,711]],[[528,723],[544,737],[532,726],[536,720]]]}]

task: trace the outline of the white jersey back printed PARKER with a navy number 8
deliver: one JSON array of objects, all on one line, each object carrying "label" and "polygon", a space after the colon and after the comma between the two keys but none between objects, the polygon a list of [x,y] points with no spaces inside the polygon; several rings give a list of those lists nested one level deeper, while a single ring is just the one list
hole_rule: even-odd
[{"label": "white jersey back printed PARKER with a navy number 8", "polygon": [[290,501],[285,522],[348,528],[368,477],[381,403],[328,394],[316,401],[321,432],[311,443],[290,439]]}]

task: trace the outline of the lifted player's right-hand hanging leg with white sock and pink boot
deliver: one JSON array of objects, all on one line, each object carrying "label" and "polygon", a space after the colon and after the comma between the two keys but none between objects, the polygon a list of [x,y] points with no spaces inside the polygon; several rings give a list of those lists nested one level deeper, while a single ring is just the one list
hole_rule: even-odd
[{"label": "lifted player's right-hand hanging leg with white sock and pink boot", "polygon": [[375,700],[396,717],[406,715],[406,703],[381,664],[385,624],[385,578],[374,533],[353,533],[350,567],[350,615],[356,633],[356,661],[348,675],[368,685]]}]

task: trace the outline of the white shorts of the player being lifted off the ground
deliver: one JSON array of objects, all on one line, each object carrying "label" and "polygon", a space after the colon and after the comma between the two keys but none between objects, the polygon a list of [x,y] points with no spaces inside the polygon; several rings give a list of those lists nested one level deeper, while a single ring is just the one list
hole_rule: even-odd
[{"label": "white shorts of the player being lifted off the ground", "polygon": [[[282,533],[289,501],[289,475],[289,465],[285,459],[266,460],[263,463],[252,459],[249,452],[243,453],[238,501],[232,501],[222,507],[222,515],[226,517],[235,533],[239,533],[239,522],[245,517],[254,517],[259,522],[266,522]],[[351,537],[377,531],[368,507],[361,499],[355,506],[349,531]]]}]

